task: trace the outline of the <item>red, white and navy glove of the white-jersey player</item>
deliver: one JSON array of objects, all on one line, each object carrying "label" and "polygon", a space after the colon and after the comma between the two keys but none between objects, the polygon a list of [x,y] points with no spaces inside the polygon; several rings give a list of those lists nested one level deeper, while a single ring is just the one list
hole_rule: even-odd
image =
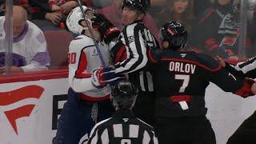
[{"label": "red, white and navy glove of the white-jersey player", "polygon": [[106,68],[100,68],[94,70],[92,74],[92,84],[97,88],[102,88],[107,84],[114,86],[114,84],[122,77],[117,77],[115,74],[114,66],[108,66]]}]

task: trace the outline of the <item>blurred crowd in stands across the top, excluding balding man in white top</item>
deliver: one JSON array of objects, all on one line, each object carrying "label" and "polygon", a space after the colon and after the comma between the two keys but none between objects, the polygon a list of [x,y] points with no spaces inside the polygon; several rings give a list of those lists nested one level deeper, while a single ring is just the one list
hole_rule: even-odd
[{"label": "blurred crowd in stands across the top, excluding balding man in white top", "polygon": [[[98,10],[114,26],[120,30],[123,29],[122,0],[82,0],[82,3]],[[181,22],[189,32],[187,48],[212,56],[220,55],[223,58],[238,60],[242,46],[240,45],[241,30],[246,34],[243,42],[246,53],[243,56],[249,58],[256,52],[255,2],[249,4],[250,9],[245,14],[249,20],[246,22],[246,28],[241,25],[239,0],[151,0],[151,9],[143,22],[157,39],[158,30],[162,24],[170,20]],[[27,19],[45,33],[50,30],[67,31],[66,16],[70,10],[78,6],[78,2],[76,0],[14,0],[14,5],[22,6],[28,14]],[[4,16],[5,10],[5,0],[0,0],[0,16]],[[63,58],[66,57],[63,56]]]}]

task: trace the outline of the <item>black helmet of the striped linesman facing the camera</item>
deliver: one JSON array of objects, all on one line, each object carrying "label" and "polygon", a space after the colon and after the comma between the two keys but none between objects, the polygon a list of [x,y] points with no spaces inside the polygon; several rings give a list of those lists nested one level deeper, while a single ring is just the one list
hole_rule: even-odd
[{"label": "black helmet of the striped linesman facing the camera", "polygon": [[122,9],[124,6],[134,7],[135,10],[146,14],[150,10],[150,0],[123,0]]}]

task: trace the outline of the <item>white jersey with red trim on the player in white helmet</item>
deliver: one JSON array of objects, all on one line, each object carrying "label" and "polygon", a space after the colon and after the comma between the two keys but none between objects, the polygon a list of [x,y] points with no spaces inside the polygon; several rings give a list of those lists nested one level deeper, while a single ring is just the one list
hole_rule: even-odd
[{"label": "white jersey with red trim on the player in white helmet", "polygon": [[[110,50],[103,42],[98,42],[102,57],[106,64],[110,64]],[[110,86],[98,89],[91,83],[91,75],[95,69],[102,66],[94,41],[86,35],[80,35],[70,42],[69,47],[69,85],[82,93],[82,98],[88,101],[100,101],[110,98]]]}]

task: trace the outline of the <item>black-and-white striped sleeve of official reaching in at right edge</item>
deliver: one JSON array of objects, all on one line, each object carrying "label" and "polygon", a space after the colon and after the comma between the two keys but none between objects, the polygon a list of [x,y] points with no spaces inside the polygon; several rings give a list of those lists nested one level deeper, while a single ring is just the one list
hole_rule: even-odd
[{"label": "black-and-white striped sleeve of official reaching in at right edge", "polygon": [[226,69],[241,78],[256,78],[256,57],[249,58],[246,62],[238,62],[236,66],[226,62]]}]

